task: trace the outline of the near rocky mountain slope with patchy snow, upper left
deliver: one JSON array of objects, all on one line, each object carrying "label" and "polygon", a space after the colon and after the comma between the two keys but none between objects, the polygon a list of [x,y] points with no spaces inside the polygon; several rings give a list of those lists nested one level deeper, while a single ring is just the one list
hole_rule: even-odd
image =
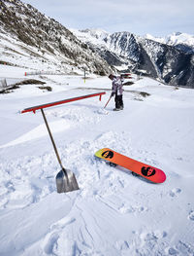
[{"label": "near rocky mountain slope with patchy snow, upper left", "polygon": [[[100,55],[53,18],[18,0],[0,1],[0,61],[21,65],[21,56],[26,59],[23,66],[37,70],[111,72]],[[26,66],[29,59],[31,66]]]}]

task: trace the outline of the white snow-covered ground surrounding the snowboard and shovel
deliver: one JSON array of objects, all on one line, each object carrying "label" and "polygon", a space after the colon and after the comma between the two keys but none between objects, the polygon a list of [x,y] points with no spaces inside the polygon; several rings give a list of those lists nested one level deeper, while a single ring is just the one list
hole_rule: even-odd
[{"label": "white snow-covered ground surrounding the snowboard and shovel", "polygon": [[[24,69],[0,65],[0,77]],[[34,77],[40,79],[39,77]],[[45,76],[0,94],[0,255],[194,255],[194,91],[144,78],[125,87],[124,110],[108,115],[108,78]],[[80,190],[57,194],[54,155],[40,111],[20,110],[106,91],[45,110],[62,163]],[[146,97],[140,91],[149,93]],[[109,147],[165,171],[151,184],[97,160]]]}]

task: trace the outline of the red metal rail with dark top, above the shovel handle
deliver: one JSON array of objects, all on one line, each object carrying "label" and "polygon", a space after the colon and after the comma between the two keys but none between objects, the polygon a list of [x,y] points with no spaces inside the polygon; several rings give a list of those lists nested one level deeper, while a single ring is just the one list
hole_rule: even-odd
[{"label": "red metal rail with dark top, above the shovel handle", "polygon": [[106,94],[106,92],[102,91],[102,92],[98,92],[98,93],[83,95],[83,96],[80,96],[80,97],[73,97],[73,98],[63,99],[63,100],[60,100],[60,101],[50,102],[50,103],[46,103],[44,105],[33,106],[33,107],[25,108],[24,110],[21,111],[21,114],[26,113],[26,112],[31,112],[31,111],[36,113],[36,111],[39,110],[39,109],[52,107],[52,106],[60,105],[60,104],[63,104],[63,103],[68,103],[68,102],[84,99],[84,98],[87,98],[87,97],[99,96],[99,99],[101,100],[101,96],[103,94]]}]

